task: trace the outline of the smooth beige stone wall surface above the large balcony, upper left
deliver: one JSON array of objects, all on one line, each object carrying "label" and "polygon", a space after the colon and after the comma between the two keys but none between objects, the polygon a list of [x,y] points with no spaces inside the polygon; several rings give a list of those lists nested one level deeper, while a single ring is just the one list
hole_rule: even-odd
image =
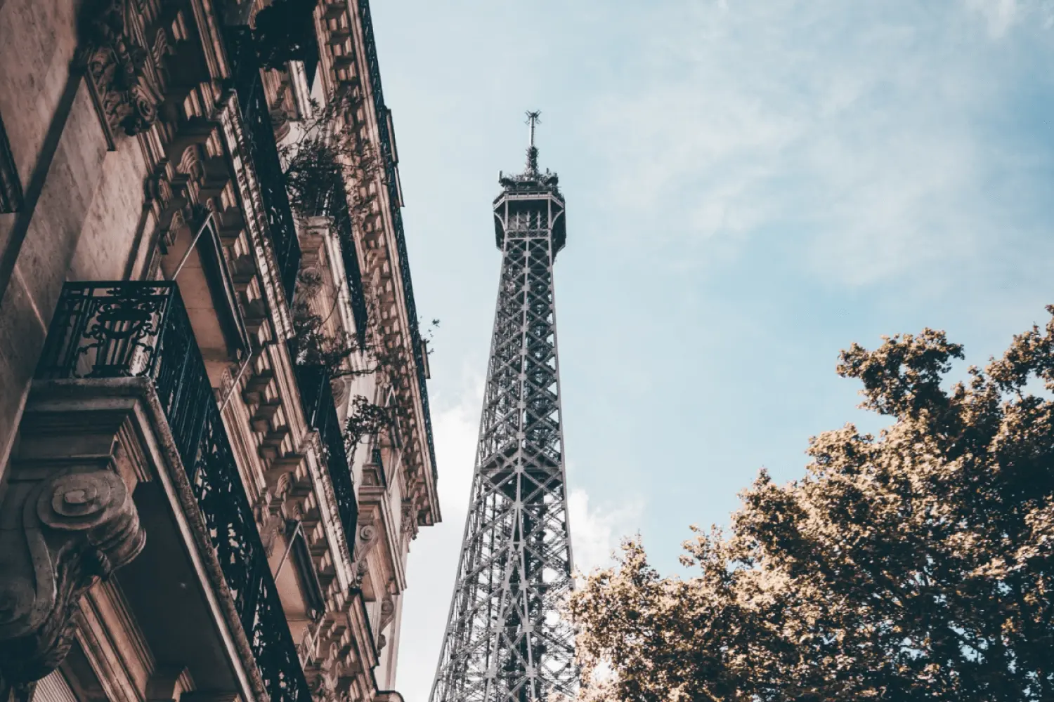
[{"label": "smooth beige stone wall surface above the large balcony, upper left", "polygon": [[75,65],[79,3],[0,3],[0,118],[24,193],[0,226],[0,485],[47,323],[66,280],[125,278],[145,164],[108,140]]}]

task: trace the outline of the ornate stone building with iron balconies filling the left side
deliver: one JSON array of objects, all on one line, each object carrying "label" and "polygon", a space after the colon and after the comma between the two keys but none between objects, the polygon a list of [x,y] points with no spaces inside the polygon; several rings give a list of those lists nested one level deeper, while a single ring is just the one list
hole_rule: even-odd
[{"label": "ornate stone building with iron balconies filling the left side", "polygon": [[0,702],[401,699],[402,206],[368,0],[0,0]]}]

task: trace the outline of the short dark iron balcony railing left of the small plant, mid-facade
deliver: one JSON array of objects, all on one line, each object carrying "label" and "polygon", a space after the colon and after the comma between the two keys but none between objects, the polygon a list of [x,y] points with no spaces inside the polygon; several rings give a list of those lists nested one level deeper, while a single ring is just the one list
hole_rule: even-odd
[{"label": "short dark iron balcony railing left of the small plant, mid-facade", "polygon": [[296,384],[308,423],[318,432],[326,450],[326,465],[333,483],[337,514],[348,540],[348,550],[355,557],[355,527],[358,524],[358,502],[351,477],[351,465],[345,448],[344,430],[333,404],[330,375],[323,366],[297,365]]}]

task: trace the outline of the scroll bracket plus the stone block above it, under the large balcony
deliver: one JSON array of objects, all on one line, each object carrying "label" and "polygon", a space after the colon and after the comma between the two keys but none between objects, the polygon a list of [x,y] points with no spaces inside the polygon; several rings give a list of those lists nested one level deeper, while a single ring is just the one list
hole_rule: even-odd
[{"label": "scroll bracket plus the stone block above it, under the large balcony", "polygon": [[0,503],[0,675],[38,680],[65,657],[73,613],[142,550],[132,501],[140,448],[128,408],[26,409]]}]

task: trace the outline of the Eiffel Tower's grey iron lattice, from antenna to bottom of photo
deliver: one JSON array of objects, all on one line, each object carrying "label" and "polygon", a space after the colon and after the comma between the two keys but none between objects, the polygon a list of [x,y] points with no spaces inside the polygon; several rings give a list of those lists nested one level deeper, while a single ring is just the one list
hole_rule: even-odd
[{"label": "Eiffel Tower's grey iron lattice, from antenna to bottom of photo", "polygon": [[578,686],[552,263],[567,238],[557,174],[502,174],[502,250],[480,444],[430,702],[528,702]]}]

